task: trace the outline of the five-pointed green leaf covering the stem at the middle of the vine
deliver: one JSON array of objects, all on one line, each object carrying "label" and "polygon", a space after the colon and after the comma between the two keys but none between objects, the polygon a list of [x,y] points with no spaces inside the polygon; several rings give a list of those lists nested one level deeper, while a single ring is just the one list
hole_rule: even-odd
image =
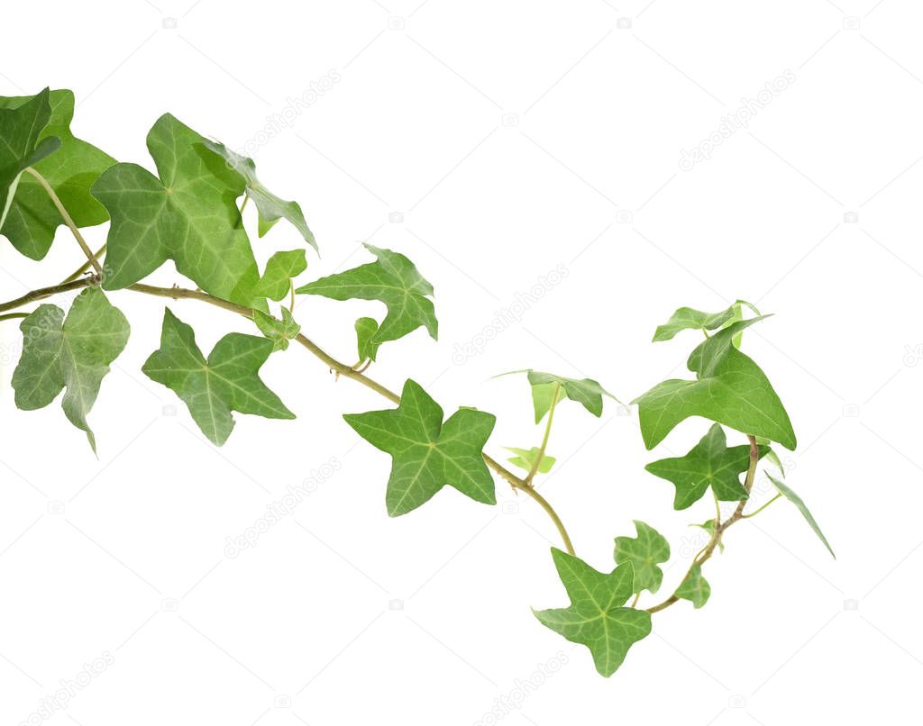
[{"label": "five-pointed green leaf covering the stem at the middle of the vine", "polygon": [[442,409],[408,379],[397,409],[347,413],[343,418],[366,441],[391,455],[385,504],[398,517],[428,502],[450,484],[476,502],[497,503],[484,445],[496,417],[459,409],[443,423]]}]

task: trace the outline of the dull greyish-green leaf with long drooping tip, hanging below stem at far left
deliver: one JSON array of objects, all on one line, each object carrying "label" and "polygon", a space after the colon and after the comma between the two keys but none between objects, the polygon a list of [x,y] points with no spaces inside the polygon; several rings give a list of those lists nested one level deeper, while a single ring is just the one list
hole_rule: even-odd
[{"label": "dull greyish-green leaf with long drooping tip, hanging below stem at far left", "polygon": [[87,414],[109,364],[125,348],[130,330],[125,315],[99,288],[89,288],[74,300],[66,319],[61,308],[39,305],[19,329],[23,347],[13,373],[16,405],[24,411],[42,409],[66,388],[61,402],[65,415],[86,432],[95,452]]}]

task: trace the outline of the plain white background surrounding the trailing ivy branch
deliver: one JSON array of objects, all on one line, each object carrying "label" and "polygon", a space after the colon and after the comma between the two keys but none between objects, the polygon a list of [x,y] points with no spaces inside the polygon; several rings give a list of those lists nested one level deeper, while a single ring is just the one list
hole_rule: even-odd
[{"label": "plain white background surrounding the trailing ivy branch", "polygon": [[[433,281],[438,344],[418,330],[371,374],[398,389],[413,376],[446,411],[496,412],[497,456],[540,432],[525,381],[491,375],[590,375],[629,400],[685,375],[695,335],[649,342],[679,305],[739,296],[776,314],[745,350],[791,414],[788,482],[839,559],[793,506],[773,505],[706,568],[712,600],[655,615],[603,679],[530,614],[566,604],[556,533],[531,501],[499,483],[505,507],[447,489],[389,519],[390,459],[340,419],[383,399],[300,348],[263,369],[298,419],[238,416],[216,449],[139,372],[162,301],[114,293],[133,332],[90,417],[98,460],[57,403],[15,411],[18,332],[3,324],[0,722],[26,719],[105,651],[114,663],[55,723],[473,724],[561,653],[505,723],[917,719],[921,21],[911,0],[5,6],[2,92],[74,89],[78,135],[122,161],[150,166],[144,137],[166,111],[240,148],[335,74],[255,151],[260,175],[306,209],[323,253],[308,276],[365,262],[366,240]],[[682,149],[786,70],[795,82],[749,127],[680,169]],[[87,233],[102,244],[105,228]],[[255,240],[261,261],[296,244],[284,224]],[[41,265],[3,243],[0,297],[78,262],[64,232]],[[558,265],[567,277],[520,321],[453,361]],[[155,280],[177,278],[168,265]],[[171,306],[206,351],[251,332]],[[382,309],[305,298],[296,313],[352,363],[355,317]],[[655,452],[636,411],[611,402],[599,420],[565,403],[557,425],[557,469],[540,486],[578,553],[610,569],[612,538],[640,518],[688,560],[701,542],[688,525],[711,505],[674,512],[672,486],[643,465],[686,451],[704,424],[683,423]],[[292,516],[225,556],[226,537],[325,464],[338,470]],[[669,567],[665,592],[683,570]]]}]

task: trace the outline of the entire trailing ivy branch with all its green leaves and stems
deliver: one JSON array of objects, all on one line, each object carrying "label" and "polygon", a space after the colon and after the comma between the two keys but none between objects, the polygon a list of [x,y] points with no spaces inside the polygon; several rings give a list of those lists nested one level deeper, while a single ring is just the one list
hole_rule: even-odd
[{"label": "entire trailing ivy branch with all its green leaves and stems", "polygon": [[[462,407],[447,418],[415,381],[404,380],[399,395],[365,373],[381,346],[421,327],[432,339],[438,336],[433,285],[410,259],[366,244],[373,259],[365,264],[300,280],[309,268],[307,253],[318,244],[301,206],[259,181],[253,160],[165,114],[147,137],[154,166],[149,170],[116,161],[74,137],[73,112],[74,95],[68,90],[0,98],[0,235],[39,261],[64,225],[83,259],[66,280],[0,303],[0,321],[20,321],[22,348],[12,375],[19,409],[48,406],[63,391],[66,418],[95,451],[93,403],[109,366],[129,344],[126,315],[116,306],[124,294],[173,301],[163,311],[160,348],[149,352],[142,371],[186,404],[189,417],[215,446],[223,446],[232,434],[234,413],[294,418],[259,370],[271,355],[295,343],[338,377],[388,402],[382,410],[350,412],[343,419],[390,455],[383,490],[391,517],[406,516],[434,496],[447,496],[440,494],[447,486],[475,502],[496,505],[495,477],[541,506],[561,540],[561,547],[551,551],[549,574],[552,567],[557,571],[570,602],[533,612],[542,625],[589,649],[596,670],[605,676],[651,633],[655,613],[679,601],[694,609],[706,604],[712,589],[703,568],[716,550],[724,550],[727,530],[776,500],[794,504],[833,554],[808,507],[785,482],[774,448],[797,446],[788,413],[760,366],[741,350],[745,330],[766,318],[753,305],[737,300],[716,313],[678,309],[656,327],[653,340],[701,336],[689,353],[691,375],[658,383],[633,401],[648,449],[681,423],[691,427],[692,422],[684,423],[688,419],[710,422],[687,453],[648,464],[651,476],[643,480],[645,486],[660,487],[665,501],[672,496],[677,511],[698,505],[710,492],[713,516],[703,523],[697,516],[691,524],[701,528],[707,542],[680,568],[681,577],[668,578],[662,565],[671,558],[669,542],[653,526],[635,521],[634,535],[619,533],[612,562],[597,570],[577,556],[537,480],[555,470],[548,446],[557,406],[570,400],[601,416],[605,399],[615,397],[599,382],[533,369],[516,372],[529,386],[540,429],[533,446],[507,446],[513,454],[508,463],[518,472],[508,469],[485,452],[496,423],[492,413]],[[285,220],[304,243],[294,250],[272,250],[261,243],[260,256],[268,258],[262,270],[246,231],[251,199],[259,237]],[[105,242],[93,251],[82,230],[107,220]],[[168,260],[193,284],[144,282]],[[68,292],[78,294],[66,310],[40,303]],[[304,295],[367,301],[368,315],[355,321],[356,363],[343,363],[306,336],[294,312]],[[193,328],[174,313],[176,303],[186,301],[243,316],[252,323],[252,333],[228,333],[206,354]],[[737,440],[729,443],[729,437]],[[751,504],[761,462],[777,494]],[[659,483],[664,481],[672,490]],[[669,594],[653,600],[664,589]]]}]

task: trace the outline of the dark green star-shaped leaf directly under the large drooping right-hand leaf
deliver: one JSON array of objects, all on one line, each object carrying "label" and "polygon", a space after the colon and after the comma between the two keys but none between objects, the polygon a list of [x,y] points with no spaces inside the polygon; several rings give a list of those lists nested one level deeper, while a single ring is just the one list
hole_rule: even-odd
[{"label": "dark green star-shaped leaf directly under the large drooping right-hand leaf", "polygon": [[[760,446],[760,457],[768,451],[768,446]],[[746,499],[747,490],[740,483],[740,474],[748,467],[749,445],[728,447],[724,429],[714,423],[686,456],[662,458],[644,469],[673,482],[677,487],[673,508],[686,509],[698,502],[710,486],[723,502]]]}]

